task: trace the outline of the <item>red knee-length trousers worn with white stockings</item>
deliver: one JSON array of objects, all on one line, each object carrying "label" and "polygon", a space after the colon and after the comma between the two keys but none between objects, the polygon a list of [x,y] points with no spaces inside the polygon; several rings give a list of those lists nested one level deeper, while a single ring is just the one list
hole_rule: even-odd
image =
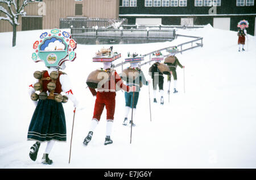
[{"label": "red knee-length trousers worn with white stockings", "polygon": [[102,111],[106,106],[106,119],[114,120],[115,113],[115,92],[97,92],[94,105],[93,119],[100,121]]}]

